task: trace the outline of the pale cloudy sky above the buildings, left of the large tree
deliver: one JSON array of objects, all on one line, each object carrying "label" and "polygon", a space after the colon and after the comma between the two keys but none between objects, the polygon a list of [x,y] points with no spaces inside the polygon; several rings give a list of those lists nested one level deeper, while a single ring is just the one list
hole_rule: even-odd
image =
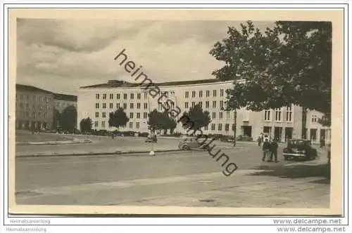
[{"label": "pale cloudy sky above the buildings, left of the large tree", "polygon": [[209,51],[241,22],[18,19],[16,83],[77,95],[110,79],[133,82],[114,60],[124,48],[153,82],[213,79],[223,64]]}]

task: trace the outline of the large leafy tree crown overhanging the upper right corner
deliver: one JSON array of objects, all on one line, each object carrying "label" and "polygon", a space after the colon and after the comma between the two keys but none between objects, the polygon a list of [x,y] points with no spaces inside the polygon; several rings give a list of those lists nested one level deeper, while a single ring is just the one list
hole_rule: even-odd
[{"label": "large leafy tree crown overhanging the upper right corner", "polygon": [[331,22],[278,21],[263,34],[248,21],[241,29],[228,27],[227,35],[210,51],[225,62],[212,73],[216,78],[242,80],[227,90],[227,107],[261,111],[294,104],[329,116]]}]

